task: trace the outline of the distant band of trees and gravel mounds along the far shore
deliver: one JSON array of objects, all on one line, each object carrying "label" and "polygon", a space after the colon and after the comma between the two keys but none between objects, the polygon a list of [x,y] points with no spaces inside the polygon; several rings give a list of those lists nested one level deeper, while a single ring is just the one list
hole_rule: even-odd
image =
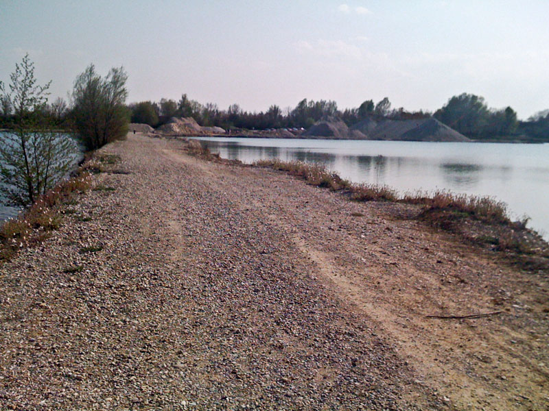
[{"label": "distant band of trees and gravel mounds along the far shore", "polygon": [[[117,77],[115,82],[121,80],[120,75],[127,77],[123,69],[116,70],[118,73],[109,74],[113,77],[111,79]],[[89,82],[88,86],[93,88],[97,84]],[[73,91],[78,87],[81,88],[82,84],[75,83]],[[115,90],[110,90],[114,93],[110,96],[113,99],[111,103],[115,103],[118,111],[114,119],[124,117],[132,123],[147,124],[159,131],[165,125],[169,129],[174,119],[186,119],[204,127],[202,132],[206,135],[231,132],[232,135],[271,138],[549,142],[549,109],[519,120],[511,106],[489,108],[483,97],[465,92],[451,97],[434,112],[392,108],[388,97],[377,103],[372,99],[365,100],[357,108],[340,109],[336,101],[303,99],[294,108],[270,105],[265,112],[247,112],[236,103],[222,110],[216,103],[200,103],[189,99],[186,94],[181,95],[178,101],[163,98],[157,102],[126,103],[128,93],[125,87],[122,88],[124,95],[116,95]],[[105,86],[104,91],[108,92],[108,87]],[[82,119],[78,118],[81,115],[78,108],[72,93],[69,103],[61,97],[51,103],[40,101],[33,112],[49,127],[75,130],[82,124]],[[19,124],[20,112],[20,103],[14,101],[9,92],[1,92],[0,128],[15,129]],[[105,121],[109,122],[107,119]],[[115,125],[111,124],[110,127]],[[416,127],[419,129],[415,130]],[[182,134],[185,132],[183,130]],[[167,133],[173,134],[173,130]]]}]

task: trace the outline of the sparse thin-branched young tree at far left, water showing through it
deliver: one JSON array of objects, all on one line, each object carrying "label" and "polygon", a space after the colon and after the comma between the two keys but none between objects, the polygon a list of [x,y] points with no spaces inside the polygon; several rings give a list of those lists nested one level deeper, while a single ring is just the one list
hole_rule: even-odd
[{"label": "sparse thin-branched young tree at far left, water showing through it", "polygon": [[0,84],[14,110],[14,129],[0,134],[0,191],[10,205],[27,206],[69,172],[77,150],[70,138],[51,131],[41,114],[51,82],[36,84],[28,55],[10,80],[10,92]]}]

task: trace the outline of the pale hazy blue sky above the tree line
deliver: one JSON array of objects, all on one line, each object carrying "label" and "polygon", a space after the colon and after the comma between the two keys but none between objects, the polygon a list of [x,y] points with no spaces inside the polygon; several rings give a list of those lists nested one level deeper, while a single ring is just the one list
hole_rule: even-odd
[{"label": "pale hazy blue sky above the tree line", "polygon": [[0,0],[0,80],[28,52],[52,98],[93,62],[124,66],[128,102],[435,110],[471,92],[526,119],[549,108],[548,18],[548,0]]}]

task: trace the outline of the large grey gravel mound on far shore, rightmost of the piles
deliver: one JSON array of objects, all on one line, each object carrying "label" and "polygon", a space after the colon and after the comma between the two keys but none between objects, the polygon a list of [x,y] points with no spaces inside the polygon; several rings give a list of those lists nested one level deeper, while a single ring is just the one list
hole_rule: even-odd
[{"label": "large grey gravel mound on far shore, rightmost of the piles", "polygon": [[440,121],[430,117],[419,120],[375,121],[364,119],[351,127],[366,134],[371,140],[408,140],[408,141],[469,141]]}]

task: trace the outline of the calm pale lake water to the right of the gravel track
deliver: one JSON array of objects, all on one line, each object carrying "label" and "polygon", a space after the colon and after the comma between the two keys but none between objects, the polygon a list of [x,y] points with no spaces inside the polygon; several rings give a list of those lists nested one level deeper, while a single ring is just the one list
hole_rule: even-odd
[{"label": "calm pale lake water to the right of the gravel track", "polygon": [[200,138],[222,158],[322,162],[352,182],[451,190],[504,201],[549,238],[549,144]]}]

